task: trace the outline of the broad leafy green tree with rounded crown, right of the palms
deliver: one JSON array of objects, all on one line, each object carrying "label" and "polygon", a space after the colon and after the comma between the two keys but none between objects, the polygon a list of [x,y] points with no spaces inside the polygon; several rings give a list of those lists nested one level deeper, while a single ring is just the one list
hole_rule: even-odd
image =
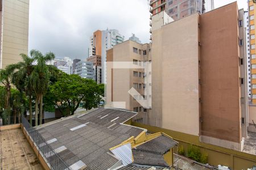
[{"label": "broad leafy green tree with rounded crown, right of the palms", "polygon": [[80,104],[86,109],[98,107],[102,99],[100,86],[94,80],[75,74],[63,74],[50,86],[50,91],[63,116],[74,114]]}]

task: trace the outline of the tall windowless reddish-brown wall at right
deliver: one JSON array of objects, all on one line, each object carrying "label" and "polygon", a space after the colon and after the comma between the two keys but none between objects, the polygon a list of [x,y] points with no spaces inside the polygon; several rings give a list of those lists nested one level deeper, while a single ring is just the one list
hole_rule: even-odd
[{"label": "tall windowless reddish-brown wall at right", "polygon": [[201,135],[239,144],[241,86],[237,12],[234,2],[200,15],[200,79]]}]

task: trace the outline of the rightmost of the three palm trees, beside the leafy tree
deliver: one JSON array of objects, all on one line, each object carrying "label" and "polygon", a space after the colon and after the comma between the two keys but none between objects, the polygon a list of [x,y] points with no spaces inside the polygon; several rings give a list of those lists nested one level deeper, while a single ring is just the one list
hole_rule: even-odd
[{"label": "rightmost of the three palm trees, beside the leafy tree", "polygon": [[38,104],[39,108],[39,125],[42,124],[43,116],[43,95],[46,93],[49,84],[49,70],[46,63],[55,58],[51,52],[43,55],[38,50],[31,50],[31,56],[36,59],[37,65],[31,74],[31,85],[35,92],[35,125],[38,125]]}]

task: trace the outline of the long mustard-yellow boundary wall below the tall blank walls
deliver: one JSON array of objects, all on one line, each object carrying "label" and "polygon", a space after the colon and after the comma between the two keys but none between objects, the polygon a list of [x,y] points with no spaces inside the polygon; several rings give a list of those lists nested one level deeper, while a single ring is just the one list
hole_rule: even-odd
[{"label": "long mustard-yellow boundary wall below the tall blank walls", "polygon": [[187,150],[188,145],[191,144],[199,146],[201,152],[208,154],[208,163],[210,165],[217,166],[218,164],[222,164],[232,169],[247,169],[253,167],[253,165],[256,165],[256,155],[246,154],[245,152],[202,143],[199,141],[199,137],[195,135],[144,125],[138,122],[133,122],[132,125],[145,128],[152,133],[162,131],[178,141],[179,145],[183,145],[185,150]]}]

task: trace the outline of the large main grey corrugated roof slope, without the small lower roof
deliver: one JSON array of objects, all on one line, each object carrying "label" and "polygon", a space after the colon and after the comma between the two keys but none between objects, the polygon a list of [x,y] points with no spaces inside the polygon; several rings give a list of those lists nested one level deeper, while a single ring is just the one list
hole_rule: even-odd
[{"label": "large main grey corrugated roof slope, without the small lower roof", "polygon": [[[65,146],[66,149],[58,155],[69,166],[81,160],[86,164],[86,169],[108,169],[119,161],[109,154],[109,148],[143,131],[141,128],[120,124],[135,115],[130,111],[98,108],[83,116],[44,124],[37,130],[46,141],[57,139],[49,143],[53,150]],[[108,128],[111,124],[115,126]]]}]

